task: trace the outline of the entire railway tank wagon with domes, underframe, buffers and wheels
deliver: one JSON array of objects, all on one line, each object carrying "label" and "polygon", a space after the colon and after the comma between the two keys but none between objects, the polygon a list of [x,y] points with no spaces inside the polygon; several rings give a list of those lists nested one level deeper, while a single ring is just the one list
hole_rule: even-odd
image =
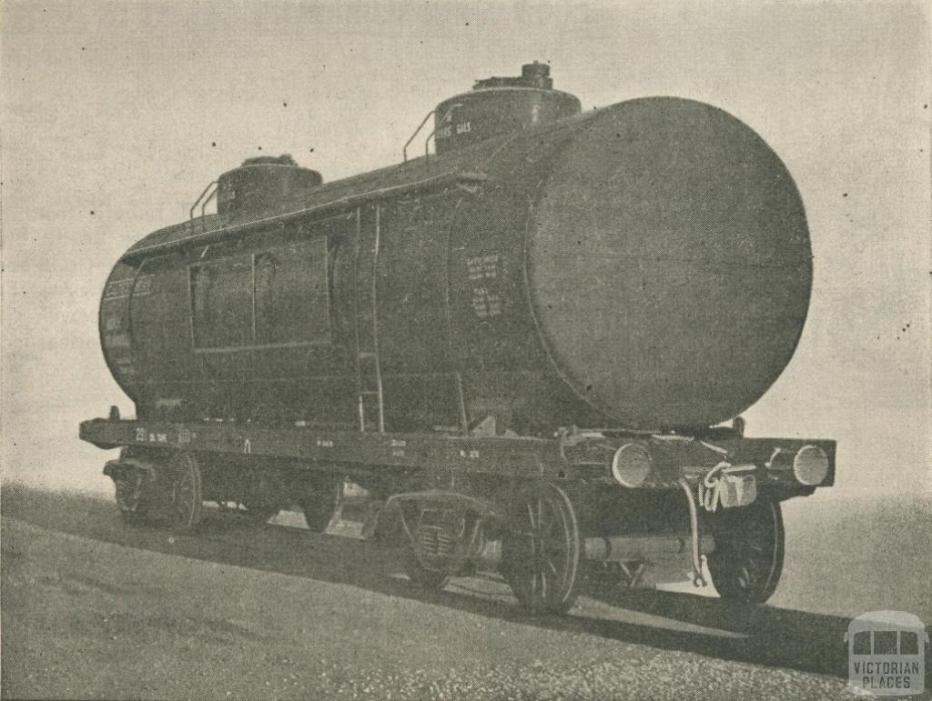
[{"label": "entire railway tank wagon with domes, underframe, buffers and wheels", "polygon": [[636,586],[707,559],[766,600],[780,502],[834,475],[832,441],[740,419],[809,303],[784,164],[697,101],[583,114],[536,62],[431,117],[434,153],[342,181],[250,159],[120,258],[100,333],[136,418],[81,425],[123,449],[118,506],[322,529],[349,476],[423,586],[491,565],[560,610],[590,561]]}]

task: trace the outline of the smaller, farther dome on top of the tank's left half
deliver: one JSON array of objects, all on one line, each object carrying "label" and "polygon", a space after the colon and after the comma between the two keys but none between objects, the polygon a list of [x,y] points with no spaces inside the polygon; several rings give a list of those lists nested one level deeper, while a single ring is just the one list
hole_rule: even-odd
[{"label": "smaller, farther dome on top of the tank's left half", "polygon": [[217,214],[281,209],[322,182],[319,172],[301,168],[288,154],[247,158],[217,179]]}]

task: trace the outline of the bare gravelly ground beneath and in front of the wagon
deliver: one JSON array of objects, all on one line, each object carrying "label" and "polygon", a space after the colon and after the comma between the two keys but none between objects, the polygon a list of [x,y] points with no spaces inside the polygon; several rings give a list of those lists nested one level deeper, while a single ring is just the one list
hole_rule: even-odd
[{"label": "bare gravelly ground beneath and in front of the wagon", "polygon": [[[848,619],[802,608],[838,606],[832,587],[853,586],[838,573],[857,553],[880,568],[884,553],[900,562],[919,548],[910,581],[872,608],[902,605],[928,572],[915,528],[883,551],[876,533],[816,547],[810,532],[795,555],[805,541],[790,535],[778,605],[590,586],[569,615],[528,618],[497,577],[424,592],[396,553],[358,540],[220,514],[172,535],[124,525],[97,496],[9,485],[2,496],[5,698],[845,697]],[[850,529],[842,511],[819,512],[821,538]],[[798,564],[818,566],[819,591]],[[870,610],[862,579],[865,600],[843,605]],[[907,603],[927,621],[923,592]]]}]

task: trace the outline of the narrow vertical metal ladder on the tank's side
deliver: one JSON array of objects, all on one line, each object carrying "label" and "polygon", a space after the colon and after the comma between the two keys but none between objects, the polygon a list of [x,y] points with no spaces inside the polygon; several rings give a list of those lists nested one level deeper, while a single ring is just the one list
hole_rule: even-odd
[{"label": "narrow vertical metal ladder on the tank's side", "polygon": [[[378,250],[380,207],[356,209],[356,394],[359,430],[385,433],[385,397],[378,359]],[[373,424],[372,422],[376,422]]]}]

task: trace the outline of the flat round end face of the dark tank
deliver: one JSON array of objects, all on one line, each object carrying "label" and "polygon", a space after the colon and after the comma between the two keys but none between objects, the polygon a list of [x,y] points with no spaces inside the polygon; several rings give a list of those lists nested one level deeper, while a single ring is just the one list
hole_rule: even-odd
[{"label": "flat round end face of the dark tank", "polygon": [[526,247],[548,355],[625,425],[746,410],[806,317],[797,188],[754,131],[699,102],[623,102],[580,129],[541,185]]}]

